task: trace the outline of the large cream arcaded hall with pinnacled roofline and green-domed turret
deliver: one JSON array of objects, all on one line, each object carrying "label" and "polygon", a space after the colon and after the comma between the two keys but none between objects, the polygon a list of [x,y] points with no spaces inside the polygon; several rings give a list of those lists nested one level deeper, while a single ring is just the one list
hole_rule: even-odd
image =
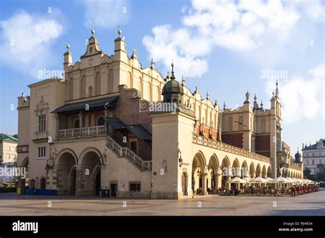
[{"label": "large cream arcaded hall with pinnacled roofline and green-domed turret", "polygon": [[234,176],[302,178],[301,161],[287,163],[281,151],[278,83],[270,109],[256,97],[251,104],[249,92],[242,106],[220,108],[179,83],[173,64],[166,77],[153,60],[143,68],[120,30],[112,55],[94,33],[74,64],[67,45],[64,79],[38,81],[18,97],[17,163],[28,166],[30,187],[180,199],[230,187]]}]

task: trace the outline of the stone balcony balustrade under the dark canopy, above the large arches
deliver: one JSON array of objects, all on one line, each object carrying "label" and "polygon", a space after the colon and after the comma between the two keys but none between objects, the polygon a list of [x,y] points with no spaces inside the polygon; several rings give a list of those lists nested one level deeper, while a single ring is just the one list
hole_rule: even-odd
[{"label": "stone balcony balustrade under the dark canopy, above the large arches", "polygon": [[97,135],[105,135],[105,126],[82,127],[73,129],[64,129],[58,131],[58,139],[73,137],[92,137]]}]

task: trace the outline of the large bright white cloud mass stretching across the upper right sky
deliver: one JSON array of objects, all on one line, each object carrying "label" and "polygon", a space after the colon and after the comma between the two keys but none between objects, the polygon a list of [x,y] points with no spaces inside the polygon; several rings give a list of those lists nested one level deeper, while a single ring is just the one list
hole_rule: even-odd
[{"label": "large bright white cloud mass stretching across the upper right sky", "polygon": [[[182,67],[177,70],[187,77],[208,70],[204,57],[215,47],[229,49],[243,57],[250,52],[250,57],[259,64],[265,62],[265,55],[273,55],[265,64],[274,64],[280,57],[276,52],[291,42],[290,36],[301,14],[312,12],[315,17],[322,14],[316,11],[317,4],[309,7],[310,10],[302,10],[303,4],[280,0],[193,0],[191,7],[182,8],[180,28],[157,25],[152,29],[154,36],[145,36],[143,44],[149,56],[156,62],[163,62],[166,68],[169,68],[171,57],[178,58],[180,62],[176,66]],[[202,65],[204,68],[197,68]]]}]

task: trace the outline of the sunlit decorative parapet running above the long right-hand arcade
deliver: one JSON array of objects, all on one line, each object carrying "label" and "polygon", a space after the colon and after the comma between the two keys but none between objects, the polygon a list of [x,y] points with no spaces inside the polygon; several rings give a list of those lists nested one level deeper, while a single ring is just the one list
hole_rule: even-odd
[{"label": "sunlit decorative parapet running above the long right-hand arcade", "polygon": [[248,150],[244,150],[244,149],[238,148],[236,146],[230,146],[230,144],[224,144],[222,142],[217,142],[215,140],[208,139],[208,138],[202,137],[200,135],[196,135],[195,133],[193,133],[192,142],[195,144],[202,144],[203,146],[208,146],[211,148],[216,148],[217,150],[222,150],[222,151],[233,153],[236,155],[249,157],[251,159],[257,159],[259,161],[271,163],[269,157],[266,157],[264,155],[258,155],[256,153],[252,153]]}]

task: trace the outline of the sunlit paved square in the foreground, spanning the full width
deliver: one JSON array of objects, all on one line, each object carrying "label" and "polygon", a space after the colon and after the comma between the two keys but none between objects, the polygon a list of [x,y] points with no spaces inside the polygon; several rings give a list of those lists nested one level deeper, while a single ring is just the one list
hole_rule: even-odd
[{"label": "sunlit paved square in the foreground, spanning the full width", "polygon": [[0,215],[325,215],[325,189],[297,197],[208,196],[184,200],[7,193],[0,194]]}]

